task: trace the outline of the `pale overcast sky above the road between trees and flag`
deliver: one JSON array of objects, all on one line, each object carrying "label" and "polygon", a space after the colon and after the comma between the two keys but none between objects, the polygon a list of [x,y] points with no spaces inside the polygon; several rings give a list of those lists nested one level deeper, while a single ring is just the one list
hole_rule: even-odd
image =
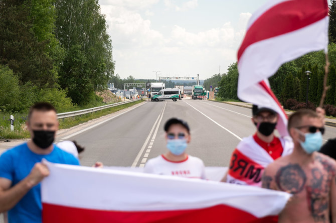
[{"label": "pale overcast sky above the road between trees and flag", "polygon": [[266,0],[99,0],[121,78],[226,72]]}]

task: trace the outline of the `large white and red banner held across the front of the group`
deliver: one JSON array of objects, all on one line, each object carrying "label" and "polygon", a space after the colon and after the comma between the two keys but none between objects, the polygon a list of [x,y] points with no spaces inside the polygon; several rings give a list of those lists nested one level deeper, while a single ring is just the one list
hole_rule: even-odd
[{"label": "large white and red banner held across the front of the group", "polygon": [[270,222],[289,193],[202,179],[49,163],[44,223]]}]

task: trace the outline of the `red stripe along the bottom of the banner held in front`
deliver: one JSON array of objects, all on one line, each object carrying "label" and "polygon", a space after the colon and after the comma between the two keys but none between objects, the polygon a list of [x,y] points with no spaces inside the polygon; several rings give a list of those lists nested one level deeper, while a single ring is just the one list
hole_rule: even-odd
[{"label": "red stripe along the bottom of the banner held in front", "polygon": [[186,222],[228,222],[257,223],[277,222],[275,216],[257,218],[243,210],[216,205],[203,209],[170,211],[108,211],[67,207],[43,203],[42,217],[44,223],[186,223]]}]

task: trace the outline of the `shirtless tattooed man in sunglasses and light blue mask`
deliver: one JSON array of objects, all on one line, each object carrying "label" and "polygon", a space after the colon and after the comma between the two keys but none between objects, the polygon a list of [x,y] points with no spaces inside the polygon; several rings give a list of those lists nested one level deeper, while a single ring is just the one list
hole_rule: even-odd
[{"label": "shirtless tattooed man in sunglasses and light blue mask", "polygon": [[262,187],[287,191],[293,196],[279,214],[279,222],[336,222],[336,161],[319,152],[323,122],[308,109],[288,120],[293,152],[270,163]]}]

